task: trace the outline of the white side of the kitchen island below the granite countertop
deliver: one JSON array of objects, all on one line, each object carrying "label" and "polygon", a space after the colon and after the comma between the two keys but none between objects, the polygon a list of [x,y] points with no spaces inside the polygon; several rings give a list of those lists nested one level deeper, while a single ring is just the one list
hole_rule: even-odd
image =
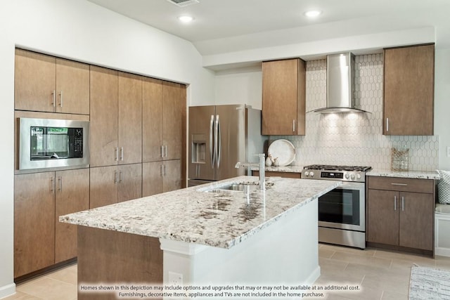
[{"label": "white side of the kitchen island below the granite countertop", "polygon": [[184,285],[311,285],[320,276],[317,210],[313,200],[230,249],[161,239],[164,281],[176,273]]}]

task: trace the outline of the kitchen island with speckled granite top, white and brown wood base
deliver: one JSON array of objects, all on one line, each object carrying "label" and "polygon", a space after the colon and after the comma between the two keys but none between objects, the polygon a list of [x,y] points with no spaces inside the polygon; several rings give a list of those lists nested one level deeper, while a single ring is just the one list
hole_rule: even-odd
[{"label": "kitchen island with speckled granite top, white and brown wood base", "polygon": [[[266,287],[281,299],[290,297],[274,289],[313,283],[317,198],[340,182],[272,177],[265,191],[257,182],[240,176],[60,216],[78,225],[78,299],[128,299],[120,293],[157,285],[204,289],[196,299]],[[250,183],[250,193],[231,183]],[[192,291],[180,292],[172,298]]]}]

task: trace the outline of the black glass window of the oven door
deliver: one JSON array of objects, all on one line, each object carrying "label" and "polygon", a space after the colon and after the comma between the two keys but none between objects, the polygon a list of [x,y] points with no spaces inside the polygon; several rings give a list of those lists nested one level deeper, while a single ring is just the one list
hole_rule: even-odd
[{"label": "black glass window of the oven door", "polygon": [[319,197],[319,221],[361,225],[359,190],[335,188]]}]

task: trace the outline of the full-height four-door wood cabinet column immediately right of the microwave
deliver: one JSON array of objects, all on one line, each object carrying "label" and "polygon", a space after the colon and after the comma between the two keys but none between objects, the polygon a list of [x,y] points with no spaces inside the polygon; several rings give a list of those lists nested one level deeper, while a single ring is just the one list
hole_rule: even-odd
[{"label": "full-height four-door wood cabinet column immediately right of the microwave", "polygon": [[91,66],[91,208],[141,197],[142,78]]}]

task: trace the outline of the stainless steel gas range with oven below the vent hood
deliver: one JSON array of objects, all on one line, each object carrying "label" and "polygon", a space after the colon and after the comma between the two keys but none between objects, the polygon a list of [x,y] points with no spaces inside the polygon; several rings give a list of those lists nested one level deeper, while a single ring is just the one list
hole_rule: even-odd
[{"label": "stainless steel gas range with oven below the vent hood", "polygon": [[319,242],[366,248],[366,171],[371,167],[314,164],[302,178],[342,181],[319,197]]}]

